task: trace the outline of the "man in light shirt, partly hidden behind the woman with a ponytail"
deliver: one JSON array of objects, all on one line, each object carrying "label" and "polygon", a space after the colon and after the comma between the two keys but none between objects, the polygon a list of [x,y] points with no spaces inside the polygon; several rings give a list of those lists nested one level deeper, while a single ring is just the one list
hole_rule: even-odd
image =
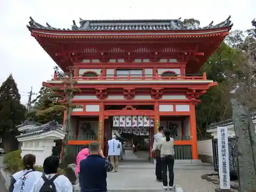
[{"label": "man in light shirt, partly hidden behind the woman with a ponytail", "polygon": [[158,129],[158,133],[154,136],[154,143],[153,143],[153,149],[152,152],[155,153],[156,158],[156,177],[157,182],[162,182],[162,167],[161,167],[161,156],[160,156],[160,149],[158,148],[157,143],[160,141],[160,139],[163,138],[163,127],[160,126]]}]

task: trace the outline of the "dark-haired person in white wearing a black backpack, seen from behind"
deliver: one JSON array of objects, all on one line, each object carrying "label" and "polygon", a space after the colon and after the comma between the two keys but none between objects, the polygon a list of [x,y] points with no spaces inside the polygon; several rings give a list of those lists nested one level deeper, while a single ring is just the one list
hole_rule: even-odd
[{"label": "dark-haired person in white wearing a black backpack, seen from behind", "polygon": [[44,173],[34,183],[30,192],[72,192],[73,188],[69,179],[57,174],[58,167],[59,159],[56,156],[47,157],[42,166]]}]

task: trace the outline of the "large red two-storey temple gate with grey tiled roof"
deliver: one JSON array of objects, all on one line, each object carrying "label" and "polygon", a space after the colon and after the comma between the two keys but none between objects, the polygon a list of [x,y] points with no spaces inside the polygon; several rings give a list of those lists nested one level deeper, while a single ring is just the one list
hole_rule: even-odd
[{"label": "large red two-storey temple gate with grey tiled roof", "polygon": [[[43,26],[30,18],[31,35],[57,65],[73,66],[77,81],[69,145],[92,141],[106,151],[112,130],[147,146],[164,126],[175,133],[176,159],[198,159],[195,105],[216,82],[199,69],[232,27],[224,22],[191,27],[179,19],[83,20],[71,29]],[[56,73],[42,83],[63,88]],[[66,116],[65,116],[66,118]],[[136,141],[135,141],[136,140]],[[137,144],[137,143],[136,143]],[[138,146],[139,146],[138,145]]]}]

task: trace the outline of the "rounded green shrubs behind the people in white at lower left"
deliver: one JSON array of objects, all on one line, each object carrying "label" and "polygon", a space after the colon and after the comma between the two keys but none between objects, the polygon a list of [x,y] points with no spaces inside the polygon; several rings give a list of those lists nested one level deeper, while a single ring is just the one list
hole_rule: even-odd
[{"label": "rounded green shrubs behind the people in white at lower left", "polygon": [[[19,172],[20,170],[24,169],[22,157],[20,157],[20,150],[16,150],[13,152],[9,152],[5,155],[3,162],[6,164],[7,168],[10,170],[11,174]],[[35,170],[38,172],[42,172],[42,166],[35,165]],[[58,168],[59,175],[65,175],[65,170]]]}]

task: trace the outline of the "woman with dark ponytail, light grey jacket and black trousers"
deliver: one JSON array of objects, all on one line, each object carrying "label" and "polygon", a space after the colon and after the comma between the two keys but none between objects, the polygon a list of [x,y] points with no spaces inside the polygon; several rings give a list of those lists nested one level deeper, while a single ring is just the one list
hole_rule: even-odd
[{"label": "woman with dark ponytail, light grey jacket and black trousers", "polygon": [[[160,148],[163,188],[174,188],[174,139],[170,137],[170,130],[164,129],[164,136],[157,143]],[[169,171],[169,187],[167,185],[167,167]]]}]

